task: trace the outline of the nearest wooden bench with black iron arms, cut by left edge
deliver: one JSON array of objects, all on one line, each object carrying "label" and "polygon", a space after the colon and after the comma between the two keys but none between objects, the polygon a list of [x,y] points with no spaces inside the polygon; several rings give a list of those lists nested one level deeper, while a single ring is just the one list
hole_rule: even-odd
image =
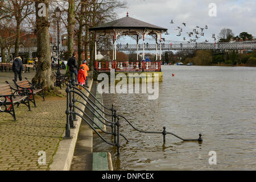
[{"label": "nearest wooden bench with black iron arms, cut by left edge", "polygon": [[[14,90],[14,92],[13,92]],[[20,104],[24,104],[30,111],[30,101],[28,100],[28,89],[18,90],[10,86],[9,82],[0,85],[0,113],[9,113],[16,121],[14,105],[19,107]]]}]

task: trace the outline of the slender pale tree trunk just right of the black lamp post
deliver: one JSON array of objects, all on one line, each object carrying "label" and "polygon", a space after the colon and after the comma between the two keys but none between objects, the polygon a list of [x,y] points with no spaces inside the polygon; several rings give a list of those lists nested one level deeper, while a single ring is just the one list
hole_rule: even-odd
[{"label": "slender pale tree trunk just right of the black lamp post", "polygon": [[75,0],[68,0],[68,59],[74,52]]}]

